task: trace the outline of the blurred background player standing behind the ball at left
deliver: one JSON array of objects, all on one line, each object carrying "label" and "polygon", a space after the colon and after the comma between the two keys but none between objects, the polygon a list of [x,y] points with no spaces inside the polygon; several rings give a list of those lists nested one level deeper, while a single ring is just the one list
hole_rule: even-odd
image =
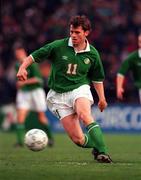
[{"label": "blurred background player standing behind the ball at left", "polygon": [[[17,59],[16,70],[24,58],[27,56],[24,48],[21,45],[15,45],[14,54]],[[48,119],[45,115],[47,109],[46,95],[43,89],[43,80],[37,64],[32,64],[28,67],[28,79],[26,81],[17,81],[17,97],[16,97],[16,108],[17,108],[17,124],[16,134],[17,143],[16,147],[22,147],[24,145],[24,134],[25,134],[25,119],[30,110],[34,110],[38,114],[38,119],[42,124],[43,129],[48,135],[49,142],[48,146],[53,146],[54,140],[51,132]]]}]

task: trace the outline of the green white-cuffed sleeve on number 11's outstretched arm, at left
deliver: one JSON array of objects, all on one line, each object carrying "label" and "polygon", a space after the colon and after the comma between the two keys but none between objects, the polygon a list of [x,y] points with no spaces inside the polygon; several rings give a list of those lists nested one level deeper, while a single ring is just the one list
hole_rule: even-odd
[{"label": "green white-cuffed sleeve on number 11's outstretched arm, at left", "polygon": [[30,54],[33,61],[39,63],[53,55],[53,43],[46,44],[45,46],[41,47],[40,49],[34,51]]}]

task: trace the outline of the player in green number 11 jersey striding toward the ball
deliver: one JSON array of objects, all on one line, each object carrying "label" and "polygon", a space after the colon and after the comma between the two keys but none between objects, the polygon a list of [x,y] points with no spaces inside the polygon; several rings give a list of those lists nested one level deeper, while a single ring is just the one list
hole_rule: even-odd
[{"label": "player in green number 11 jersey striding toward the ball", "polygon": [[[111,163],[102,131],[91,113],[92,82],[99,96],[98,107],[103,111],[107,102],[104,95],[104,71],[98,51],[89,44],[87,36],[91,23],[86,16],[74,16],[69,25],[70,37],[53,41],[30,54],[17,73],[19,81],[27,80],[27,68],[32,63],[50,59],[50,91],[48,108],[60,119],[71,140],[82,148],[92,148],[98,162]],[[86,127],[84,134],[80,121]]]}]

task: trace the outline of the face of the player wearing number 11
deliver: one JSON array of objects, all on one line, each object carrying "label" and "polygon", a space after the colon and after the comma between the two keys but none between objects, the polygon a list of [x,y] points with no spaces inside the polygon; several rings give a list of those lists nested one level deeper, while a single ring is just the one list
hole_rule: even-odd
[{"label": "face of the player wearing number 11", "polygon": [[72,39],[73,46],[79,46],[85,42],[86,37],[88,36],[89,31],[84,31],[81,26],[74,28],[70,26],[70,37]]}]

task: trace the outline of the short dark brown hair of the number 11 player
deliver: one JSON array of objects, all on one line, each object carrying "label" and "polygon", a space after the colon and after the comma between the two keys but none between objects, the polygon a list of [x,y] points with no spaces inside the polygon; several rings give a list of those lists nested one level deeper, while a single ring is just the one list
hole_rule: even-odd
[{"label": "short dark brown hair of the number 11 player", "polygon": [[72,25],[74,28],[81,26],[84,31],[91,31],[91,22],[85,15],[73,16],[69,25]]}]

